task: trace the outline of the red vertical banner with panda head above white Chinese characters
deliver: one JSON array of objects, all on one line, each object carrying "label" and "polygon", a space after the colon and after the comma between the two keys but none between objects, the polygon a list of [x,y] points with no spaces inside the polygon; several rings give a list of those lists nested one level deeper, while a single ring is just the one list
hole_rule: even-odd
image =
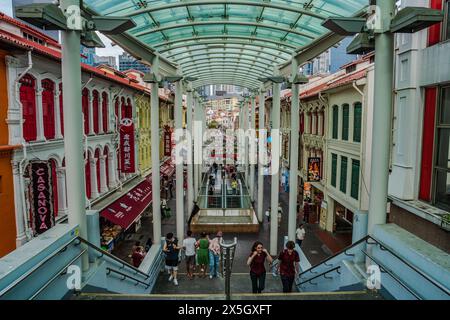
[{"label": "red vertical banner with panda head above white Chinese characters", "polygon": [[134,124],[130,118],[120,121],[120,171],[134,173]]}]

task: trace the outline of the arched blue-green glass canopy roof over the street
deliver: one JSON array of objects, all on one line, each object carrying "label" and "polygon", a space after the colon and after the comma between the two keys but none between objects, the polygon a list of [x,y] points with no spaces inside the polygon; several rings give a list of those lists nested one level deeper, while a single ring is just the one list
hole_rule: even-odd
[{"label": "arched blue-green glass canopy roof over the street", "polygon": [[193,85],[258,88],[258,78],[328,33],[329,16],[353,16],[369,0],[84,0],[99,15],[130,17],[127,31],[178,64]]}]

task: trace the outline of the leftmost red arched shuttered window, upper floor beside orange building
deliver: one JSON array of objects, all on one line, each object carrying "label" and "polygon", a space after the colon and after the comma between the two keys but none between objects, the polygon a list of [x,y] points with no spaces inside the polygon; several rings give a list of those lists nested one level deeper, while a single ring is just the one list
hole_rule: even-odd
[{"label": "leftmost red arched shuttered window, upper floor beside orange building", "polygon": [[29,74],[20,79],[20,103],[23,113],[23,138],[25,141],[34,141],[36,130],[36,80]]}]

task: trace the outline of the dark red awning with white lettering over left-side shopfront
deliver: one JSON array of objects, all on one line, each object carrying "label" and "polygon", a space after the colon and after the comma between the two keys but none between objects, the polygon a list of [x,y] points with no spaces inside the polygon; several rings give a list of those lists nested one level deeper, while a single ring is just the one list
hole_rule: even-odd
[{"label": "dark red awning with white lettering over left-side shopfront", "polygon": [[100,211],[100,215],[126,230],[151,202],[152,178],[149,175],[126,195]]}]

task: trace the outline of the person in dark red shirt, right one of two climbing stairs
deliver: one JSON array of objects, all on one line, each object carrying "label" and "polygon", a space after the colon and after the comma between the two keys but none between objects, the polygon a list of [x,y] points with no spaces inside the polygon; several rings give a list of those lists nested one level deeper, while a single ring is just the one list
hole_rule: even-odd
[{"label": "person in dark red shirt, right one of two climbing stairs", "polygon": [[294,283],[295,275],[299,272],[300,257],[295,249],[294,241],[286,243],[284,249],[279,257],[278,272],[281,275],[281,282],[283,284],[283,292],[291,292],[292,284]]}]

